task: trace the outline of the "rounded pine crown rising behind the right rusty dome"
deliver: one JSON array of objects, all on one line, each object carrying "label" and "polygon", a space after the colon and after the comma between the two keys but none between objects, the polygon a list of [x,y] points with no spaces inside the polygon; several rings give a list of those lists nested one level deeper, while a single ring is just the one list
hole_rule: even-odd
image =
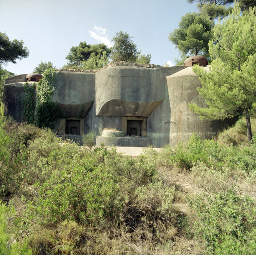
[{"label": "rounded pine crown rising behind the right rusty dome", "polygon": [[169,40],[183,54],[207,55],[213,23],[204,15],[188,12],[182,16],[179,28],[169,34]]}]

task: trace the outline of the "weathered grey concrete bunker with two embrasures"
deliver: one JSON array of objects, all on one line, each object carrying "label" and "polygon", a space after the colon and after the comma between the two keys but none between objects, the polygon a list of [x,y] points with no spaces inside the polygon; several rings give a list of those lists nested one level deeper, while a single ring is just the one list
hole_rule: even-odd
[{"label": "weathered grey concrete bunker with two embrasures", "polygon": [[[4,85],[5,113],[18,122],[24,121],[21,102],[26,76],[11,77]],[[58,120],[54,131],[77,142],[94,130],[99,135],[96,145],[174,146],[187,141],[192,132],[211,138],[224,127],[222,122],[202,121],[189,110],[190,102],[205,105],[192,67],[110,65],[97,72],[57,70],[55,85],[52,102],[66,118]]]}]

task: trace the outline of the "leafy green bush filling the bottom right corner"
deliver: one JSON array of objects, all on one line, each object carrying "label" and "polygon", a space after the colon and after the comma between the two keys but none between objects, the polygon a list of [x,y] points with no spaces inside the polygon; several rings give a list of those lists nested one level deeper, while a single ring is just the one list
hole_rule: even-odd
[{"label": "leafy green bush filling the bottom right corner", "polygon": [[255,254],[255,200],[228,189],[191,197],[189,203],[197,214],[194,234],[206,241],[206,254]]}]

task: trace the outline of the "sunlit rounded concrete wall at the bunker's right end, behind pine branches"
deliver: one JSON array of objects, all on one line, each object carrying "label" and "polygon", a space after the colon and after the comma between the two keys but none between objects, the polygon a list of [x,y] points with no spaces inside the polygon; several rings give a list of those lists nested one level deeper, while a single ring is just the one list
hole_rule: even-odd
[{"label": "sunlit rounded concrete wall at the bunker's right end, behind pine branches", "polygon": [[[205,69],[209,70],[208,67]],[[198,76],[192,67],[179,71],[167,77],[168,98],[170,102],[169,143],[171,146],[180,141],[187,141],[192,132],[198,133],[203,139],[216,135],[222,129],[221,121],[200,120],[199,116],[189,110],[188,103],[207,107],[204,99],[196,90],[201,87]]]}]

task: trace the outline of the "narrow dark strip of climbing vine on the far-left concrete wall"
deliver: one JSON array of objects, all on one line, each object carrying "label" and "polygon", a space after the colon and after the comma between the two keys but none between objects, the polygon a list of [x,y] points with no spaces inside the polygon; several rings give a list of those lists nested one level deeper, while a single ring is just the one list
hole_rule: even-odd
[{"label": "narrow dark strip of climbing vine on the far-left concrete wall", "polygon": [[21,101],[23,105],[24,121],[30,124],[34,124],[34,110],[35,110],[35,83],[28,85],[24,84],[25,99]]}]

